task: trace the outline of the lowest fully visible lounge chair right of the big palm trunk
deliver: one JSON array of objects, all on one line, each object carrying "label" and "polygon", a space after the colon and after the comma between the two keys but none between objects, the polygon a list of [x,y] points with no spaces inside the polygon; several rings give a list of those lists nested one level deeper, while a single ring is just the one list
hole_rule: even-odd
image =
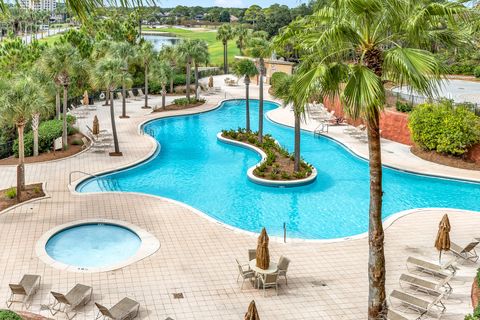
[{"label": "lowest fully visible lounge chair right of the big palm trunk", "polygon": [[429,314],[435,318],[440,318],[446,310],[445,305],[441,301],[442,297],[428,301],[403,291],[393,290],[389,299],[390,305],[394,306],[393,301],[395,301],[397,302],[397,309],[403,307],[402,311],[411,310],[418,313],[420,317]]}]

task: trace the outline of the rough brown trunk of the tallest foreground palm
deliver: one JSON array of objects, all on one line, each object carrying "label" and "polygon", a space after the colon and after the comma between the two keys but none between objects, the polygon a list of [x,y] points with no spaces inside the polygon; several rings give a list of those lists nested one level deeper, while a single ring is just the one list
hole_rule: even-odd
[{"label": "rough brown trunk of the tallest foreground palm", "polygon": [[380,319],[385,313],[385,255],[382,225],[382,158],[379,113],[368,123],[370,164],[369,259],[368,259],[368,319]]}]

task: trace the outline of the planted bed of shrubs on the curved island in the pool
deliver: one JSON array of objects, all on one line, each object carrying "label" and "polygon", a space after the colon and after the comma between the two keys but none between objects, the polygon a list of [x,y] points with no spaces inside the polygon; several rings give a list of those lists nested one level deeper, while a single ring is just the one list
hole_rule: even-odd
[{"label": "planted bed of shrubs on the curved island in the pool", "polygon": [[[253,170],[253,175],[266,180],[304,180],[314,171],[312,165],[300,161],[300,170],[294,170],[294,155],[280,146],[270,135],[263,136],[263,142],[258,141],[258,134],[245,129],[222,130],[223,138],[238,141],[256,147],[265,153],[263,161]],[[313,179],[312,179],[313,181]]]}]

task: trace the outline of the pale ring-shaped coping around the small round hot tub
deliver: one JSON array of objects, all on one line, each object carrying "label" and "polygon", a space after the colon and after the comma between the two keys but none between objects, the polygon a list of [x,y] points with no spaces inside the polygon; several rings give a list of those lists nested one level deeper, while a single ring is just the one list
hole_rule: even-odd
[{"label": "pale ring-shaped coping around the small round hot tub", "polygon": [[[137,249],[137,251],[133,256],[129,257],[128,259],[122,262],[116,263],[111,266],[92,267],[92,268],[81,268],[77,266],[68,265],[66,263],[53,259],[47,253],[45,246],[47,245],[48,240],[50,240],[50,238],[53,237],[55,234],[75,226],[80,226],[85,224],[98,224],[98,223],[115,225],[115,226],[123,227],[130,230],[140,238],[140,241],[141,241],[140,247]],[[35,243],[35,254],[37,258],[39,258],[43,263],[55,269],[68,271],[68,272],[76,272],[76,273],[100,273],[100,272],[118,270],[153,255],[159,249],[160,249],[160,241],[147,230],[142,229],[130,222],[114,220],[114,219],[105,219],[105,218],[81,219],[81,220],[70,221],[70,222],[55,226],[49,229],[48,231],[44,232],[42,236]]]}]

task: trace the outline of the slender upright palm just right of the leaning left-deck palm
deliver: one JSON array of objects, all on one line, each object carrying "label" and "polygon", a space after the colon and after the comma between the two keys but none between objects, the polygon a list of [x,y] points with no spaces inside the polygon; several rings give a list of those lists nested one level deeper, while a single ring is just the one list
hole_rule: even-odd
[{"label": "slender upright palm just right of the leaning left-deck palm", "polygon": [[107,53],[107,56],[110,54],[112,57],[121,59],[123,61],[123,69],[120,73],[122,77],[122,115],[121,119],[130,118],[127,116],[127,86],[130,85],[133,81],[130,73],[128,72],[128,67],[130,63],[136,58],[136,50],[128,42],[116,42],[111,47],[111,52]]}]

